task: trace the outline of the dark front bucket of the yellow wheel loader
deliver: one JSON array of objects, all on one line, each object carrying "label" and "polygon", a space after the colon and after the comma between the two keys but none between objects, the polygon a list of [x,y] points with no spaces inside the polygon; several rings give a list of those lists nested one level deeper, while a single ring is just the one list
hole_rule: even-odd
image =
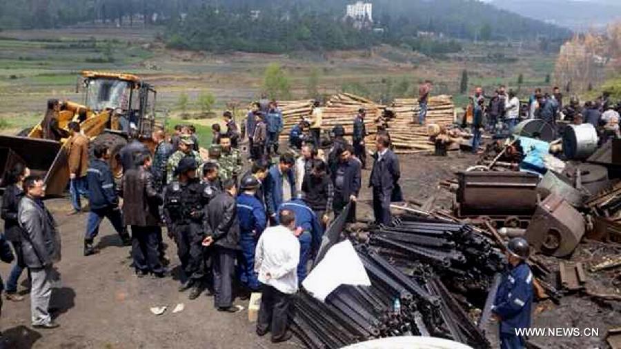
[{"label": "dark front bucket of the yellow wheel loader", "polygon": [[48,139],[0,136],[0,190],[4,190],[6,175],[17,162],[30,168],[46,182],[46,196],[63,195],[69,182],[67,152],[62,143]]}]

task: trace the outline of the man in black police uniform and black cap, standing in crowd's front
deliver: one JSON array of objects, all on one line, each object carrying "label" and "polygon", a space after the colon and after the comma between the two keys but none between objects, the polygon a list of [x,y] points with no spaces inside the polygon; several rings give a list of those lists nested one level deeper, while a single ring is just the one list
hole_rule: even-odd
[{"label": "man in black police uniform and black cap, standing in crowd's front", "polygon": [[177,255],[184,271],[179,292],[193,288],[190,299],[197,298],[205,287],[206,270],[201,241],[204,208],[213,194],[201,183],[196,170],[195,159],[184,157],[175,167],[177,180],[169,183],[164,191],[164,219],[168,225],[168,236],[177,243]]}]

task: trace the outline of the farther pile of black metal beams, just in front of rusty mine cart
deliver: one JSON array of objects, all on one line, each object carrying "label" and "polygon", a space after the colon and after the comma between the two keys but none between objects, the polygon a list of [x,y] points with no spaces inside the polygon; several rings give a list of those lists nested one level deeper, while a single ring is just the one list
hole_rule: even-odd
[{"label": "farther pile of black metal beams, just in front of rusty mine cart", "polygon": [[504,257],[472,226],[413,215],[395,217],[393,226],[380,226],[370,243],[395,266],[413,275],[413,261],[433,268],[453,291],[482,306],[493,276],[504,269]]}]

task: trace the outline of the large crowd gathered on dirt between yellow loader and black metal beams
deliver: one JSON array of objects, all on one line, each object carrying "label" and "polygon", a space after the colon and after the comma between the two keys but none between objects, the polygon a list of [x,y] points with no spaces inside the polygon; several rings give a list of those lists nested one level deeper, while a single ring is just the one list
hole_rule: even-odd
[{"label": "large crowd gathered on dirt between yellow loader and black metal beams", "polygon": [[[189,299],[207,292],[217,310],[231,313],[243,309],[235,297],[262,292],[257,334],[271,332],[272,341],[286,341],[291,295],[306,277],[324,230],[346,208],[347,221],[356,220],[367,155],[364,117],[364,109],[352,116],[351,142],[344,127],[336,126],[326,143],[317,103],[290,132],[288,149],[282,149],[277,101],[258,101],[241,128],[233,113],[224,112],[224,127],[212,127],[208,157],[201,156],[193,126],[175,126],[171,134],[155,130],[154,149],[132,130],[128,144],[112,154],[106,144],[91,147],[80,124],[69,123],[68,215],[88,212],[83,255],[99,252],[95,239],[106,218],[131,246],[137,277],[167,277],[166,228],[177,247],[180,292],[190,290]],[[377,134],[375,148],[368,181],[375,223],[390,224],[390,203],[395,192],[401,195],[400,165],[388,134]],[[111,161],[121,164],[121,177],[112,172]],[[55,328],[49,301],[61,239],[43,201],[46,186],[21,163],[10,170],[8,181],[1,214],[17,262],[6,283],[6,299],[23,301],[16,291],[26,268],[32,326]],[[83,197],[88,206],[82,205]],[[8,246],[0,242],[0,248]]]}]

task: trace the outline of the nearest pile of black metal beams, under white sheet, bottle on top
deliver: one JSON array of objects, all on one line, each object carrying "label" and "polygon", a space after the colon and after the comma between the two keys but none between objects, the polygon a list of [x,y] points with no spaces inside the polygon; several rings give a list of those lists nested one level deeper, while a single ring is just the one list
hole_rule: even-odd
[{"label": "nearest pile of black metal beams, under white sheet, bottle on top", "polygon": [[371,286],[340,286],[325,303],[302,291],[291,329],[308,348],[341,348],[401,335],[444,337],[489,347],[431,266],[411,261],[406,275],[377,248],[356,247]]}]

